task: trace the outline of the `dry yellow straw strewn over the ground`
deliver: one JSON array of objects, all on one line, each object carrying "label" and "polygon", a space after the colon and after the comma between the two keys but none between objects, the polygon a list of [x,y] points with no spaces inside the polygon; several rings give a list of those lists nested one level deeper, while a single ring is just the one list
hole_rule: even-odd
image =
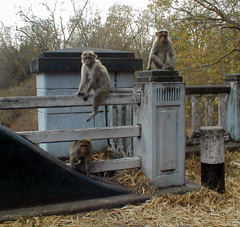
[{"label": "dry yellow straw strewn over the ground", "polygon": [[[0,227],[15,226],[239,226],[240,225],[240,153],[226,152],[226,193],[201,188],[184,195],[156,196],[156,189],[139,170],[122,171],[111,180],[151,195],[138,206],[98,210],[68,216],[19,218]],[[190,156],[186,162],[187,179],[199,183],[200,160]]]}]

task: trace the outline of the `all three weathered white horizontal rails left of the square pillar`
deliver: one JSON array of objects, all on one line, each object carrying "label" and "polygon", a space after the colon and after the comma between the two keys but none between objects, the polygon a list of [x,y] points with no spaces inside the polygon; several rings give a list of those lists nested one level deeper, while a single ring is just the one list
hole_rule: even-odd
[{"label": "all three weathered white horizontal rails left of the square pillar", "polygon": [[[0,110],[7,109],[29,109],[29,108],[52,108],[67,106],[91,106],[93,97],[83,101],[76,96],[33,96],[33,97],[7,97],[0,98]],[[103,103],[105,105],[133,105],[140,104],[141,96],[133,93],[110,94]],[[33,143],[51,143],[73,141],[81,138],[94,139],[119,139],[141,136],[141,125],[125,125],[107,128],[88,128],[72,130],[47,130],[47,131],[25,131],[17,132]],[[95,161],[92,163],[91,172],[103,172],[128,168],[141,167],[141,158],[121,158],[107,161]]]}]

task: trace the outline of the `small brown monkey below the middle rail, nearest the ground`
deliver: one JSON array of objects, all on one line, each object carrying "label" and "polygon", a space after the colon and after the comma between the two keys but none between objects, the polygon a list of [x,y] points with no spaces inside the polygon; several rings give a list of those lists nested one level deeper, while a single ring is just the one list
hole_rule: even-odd
[{"label": "small brown monkey below the middle rail, nearest the ground", "polygon": [[84,160],[85,162],[85,171],[87,176],[90,175],[90,164],[92,157],[92,143],[88,139],[82,139],[78,141],[74,141],[70,145],[69,149],[70,153],[70,163],[72,168],[75,167],[75,163],[78,161]]}]

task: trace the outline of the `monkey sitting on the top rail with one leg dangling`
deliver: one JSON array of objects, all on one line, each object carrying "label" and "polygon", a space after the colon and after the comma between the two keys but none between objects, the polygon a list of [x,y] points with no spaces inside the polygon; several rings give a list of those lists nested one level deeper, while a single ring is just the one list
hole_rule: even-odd
[{"label": "monkey sitting on the top rail with one leg dangling", "polygon": [[90,50],[82,53],[81,82],[79,84],[77,96],[83,96],[86,101],[91,90],[94,91],[93,112],[88,116],[87,122],[98,113],[98,107],[109,94],[110,77],[108,71],[102,63],[97,60],[97,55]]}]

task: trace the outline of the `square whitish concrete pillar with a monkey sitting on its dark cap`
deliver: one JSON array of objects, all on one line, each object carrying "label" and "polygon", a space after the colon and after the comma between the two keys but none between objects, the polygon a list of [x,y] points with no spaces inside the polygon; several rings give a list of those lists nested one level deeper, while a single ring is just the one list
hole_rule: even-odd
[{"label": "square whitish concrete pillar with a monkey sitting on its dark cap", "polygon": [[142,135],[134,139],[134,156],[156,187],[185,183],[185,84],[176,71],[143,71],[135,92],[142,100],[134,109]]}]

